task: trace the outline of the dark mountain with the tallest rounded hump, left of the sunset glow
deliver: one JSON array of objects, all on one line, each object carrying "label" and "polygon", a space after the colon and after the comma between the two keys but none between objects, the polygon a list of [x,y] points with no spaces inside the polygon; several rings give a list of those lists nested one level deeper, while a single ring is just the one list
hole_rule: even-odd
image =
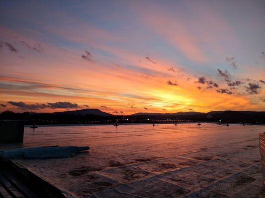
[{"label": "dark mountain with the tallest rounded hump, left of the sunset glow", "polygon": [[74,110],[74,111],[54,112],[53,114],[113,116],[110,113],[100,111],[99,109],[96,109],[96,108],[86,108],[86,109]]}]

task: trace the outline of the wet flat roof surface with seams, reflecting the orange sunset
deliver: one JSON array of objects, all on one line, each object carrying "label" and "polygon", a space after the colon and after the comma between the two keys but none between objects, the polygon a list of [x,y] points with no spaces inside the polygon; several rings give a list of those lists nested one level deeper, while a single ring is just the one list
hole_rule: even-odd
[{"label": "wet flat roof surface with seams, reflecting the orange sunset", "polygon": [[25,128],[23,145],[89,146],[70,158],[16,160],[76,197],[263,197],[265,126],[201,123]]}]

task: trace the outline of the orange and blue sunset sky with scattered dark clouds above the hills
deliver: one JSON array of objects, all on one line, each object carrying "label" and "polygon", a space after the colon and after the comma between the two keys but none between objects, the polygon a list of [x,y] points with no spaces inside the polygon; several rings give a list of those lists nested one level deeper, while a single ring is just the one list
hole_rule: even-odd
[{"label": "orange and blue sunset sky with scattered dark clouds above the hills", "polygon": [[265,111],[265,1],[0,1],[0,112]]}]

